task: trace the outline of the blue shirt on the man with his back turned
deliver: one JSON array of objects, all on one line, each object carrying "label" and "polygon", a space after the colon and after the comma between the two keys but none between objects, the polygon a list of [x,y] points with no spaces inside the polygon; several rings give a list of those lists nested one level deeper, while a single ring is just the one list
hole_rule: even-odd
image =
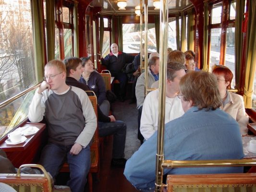
[{"label": "blue shirt on the man with his back turned", "polygon": [[[198,118],[200,120],[198,120]],[[124,175],[137,189],[155,187],[157,132],[126,162]],[[165,124],[164,159],[214,160],[244,157],[238,123],[226,112],[190,108]],[[171,168],[164,174],[242,173],[243,167]]]}]

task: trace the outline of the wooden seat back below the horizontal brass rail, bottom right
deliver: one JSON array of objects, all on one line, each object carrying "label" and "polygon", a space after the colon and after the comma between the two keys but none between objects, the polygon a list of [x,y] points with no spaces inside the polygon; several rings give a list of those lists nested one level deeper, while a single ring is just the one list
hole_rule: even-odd
[{"label": "wooden seat back below the horizontal brass rail, bottom right", "polygon": [[256,173],[168,175],[168,192],[256,192]]}]

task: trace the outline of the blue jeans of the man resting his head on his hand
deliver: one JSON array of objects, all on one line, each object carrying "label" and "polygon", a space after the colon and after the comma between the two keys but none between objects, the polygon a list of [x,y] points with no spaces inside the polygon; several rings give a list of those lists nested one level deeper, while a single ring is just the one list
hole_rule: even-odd
[{"label": "blue jeans of the man resting his head on his hand", "polygon": [[72,146],[47,144],[42,151],[40,164],[55,178],[64,161],[67,160],[70,170],[70,180],[67,185],[72,192],[84,192],[91,165],[90,147],[87,145],[79,154],[71,155],[69,152]]}]

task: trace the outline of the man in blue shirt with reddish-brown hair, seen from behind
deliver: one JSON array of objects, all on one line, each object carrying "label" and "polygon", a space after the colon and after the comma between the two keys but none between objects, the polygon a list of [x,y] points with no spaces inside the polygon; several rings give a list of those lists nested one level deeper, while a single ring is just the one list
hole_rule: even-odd
[{"label": "man in blue shirt with reddish-brown hair, seen from behind", "polygon": [[[164,159],[216,160],[244,157],[239,125],[219,109],[217,79],[189,72],[180,81],[184,115],[165,125]],[[127,161],[124,175],[137,189],[154,190],[157,132]],[[171,168],[164,174],[242,173],[243,167]]]}]

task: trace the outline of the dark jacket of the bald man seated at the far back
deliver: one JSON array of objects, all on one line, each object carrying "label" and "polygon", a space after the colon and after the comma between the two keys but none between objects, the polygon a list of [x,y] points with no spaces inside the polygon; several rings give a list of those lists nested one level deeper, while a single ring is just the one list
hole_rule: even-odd
[{"label": "dark jacket of the bald man seated at the far back", "polygon": [[104,59],[101,58],[101,63],[107,66],[110,73],[121,72],[126,63],[131,63],[134,60],[133,55],[128,55],[121,51],[118,51],[117,57],[110,52]]}]

